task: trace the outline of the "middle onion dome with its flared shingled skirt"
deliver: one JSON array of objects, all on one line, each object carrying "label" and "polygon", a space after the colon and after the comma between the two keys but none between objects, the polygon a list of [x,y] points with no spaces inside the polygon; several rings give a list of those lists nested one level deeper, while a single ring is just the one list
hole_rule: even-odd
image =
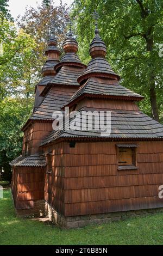
[{"label": "middle onion dome with its flared shingled skirt", "polygon": [[62,56],[60,63],[55,66],[55,70],[60,69],[62,66],[79,66],[81,68],[86,68],[86,65],[82,64],[80,61],[77,51],[78,51],[78,42],[73,38],[71,29],[68,32],[66,40],[62,44],[63,50],[65,52]]}]

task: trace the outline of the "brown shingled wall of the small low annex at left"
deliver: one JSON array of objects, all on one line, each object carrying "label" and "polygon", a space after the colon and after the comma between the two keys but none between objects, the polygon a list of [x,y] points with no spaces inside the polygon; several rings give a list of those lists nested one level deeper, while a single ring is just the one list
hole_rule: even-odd
[{"label": "brown shingled wall of the small low annex at left", "polygon": [[14,167],[12,178],[12,196],[16,209],[33,208],[34,200],[44,196],[45,168]]}]

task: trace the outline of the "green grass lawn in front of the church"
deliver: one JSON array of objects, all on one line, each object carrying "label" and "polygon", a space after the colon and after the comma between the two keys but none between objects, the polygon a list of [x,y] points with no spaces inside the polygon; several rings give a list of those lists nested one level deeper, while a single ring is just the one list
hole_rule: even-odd
[{"label": "green grass lawn in front of the church", "polygon": [[10,190],[0,199],[0,245],[162,245],[162,214],[103,225],[61,230],[55,225],[17,218]]}]

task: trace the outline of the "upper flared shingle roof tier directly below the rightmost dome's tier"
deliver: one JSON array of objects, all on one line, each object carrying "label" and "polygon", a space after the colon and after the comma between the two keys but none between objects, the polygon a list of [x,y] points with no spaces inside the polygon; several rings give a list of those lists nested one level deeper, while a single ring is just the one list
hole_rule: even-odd
[{"label": "upper flared shingle roof tier directly below the rightmost dome's tier", "polygon": [[67,102],[66,106],[73,105],[73,102],[78,102],[79,99],[85,95],[89,97],[107,97],[111,99],[117,98],[134,101],[140,101],[143,99],[143,96],[121,86],[115,80],[92,77],[77,90],[77,92],[71,97],[70,101]]}]

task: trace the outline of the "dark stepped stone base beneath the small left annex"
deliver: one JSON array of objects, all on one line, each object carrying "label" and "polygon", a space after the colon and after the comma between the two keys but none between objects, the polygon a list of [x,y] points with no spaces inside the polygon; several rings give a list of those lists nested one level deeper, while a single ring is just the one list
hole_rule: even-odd
[{"label": "dark stepped stone base beneath the small left annex", "polygon": [[43,217],[45,216],[45,200],[34,201],[34,207],[30,209],[16,210],[16,215],[23,218]]}]

